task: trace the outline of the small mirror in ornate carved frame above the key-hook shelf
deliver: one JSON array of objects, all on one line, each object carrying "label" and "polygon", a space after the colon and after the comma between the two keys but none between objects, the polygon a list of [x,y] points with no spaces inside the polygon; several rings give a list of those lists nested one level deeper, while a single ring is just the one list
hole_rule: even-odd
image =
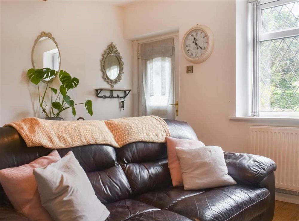
[{"label": "small mirror in ornate carved frame above the key-hook shelf", "polygon": [[106,80],[112,88],[122,79],[123,60],[113,43],[108,45],[102,55],[101,71],[103,72],[104,80]]}]

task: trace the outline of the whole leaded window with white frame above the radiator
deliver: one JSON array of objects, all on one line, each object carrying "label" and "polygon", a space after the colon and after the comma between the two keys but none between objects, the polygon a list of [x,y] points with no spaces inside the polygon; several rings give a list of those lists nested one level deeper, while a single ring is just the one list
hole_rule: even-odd
[{"label": "whole leaded window with white frame above the radiator", "polygon": [[[299,1],[259,5],[260,116],[299,117]],[[255,81],[253,81],[255,82]]]}]

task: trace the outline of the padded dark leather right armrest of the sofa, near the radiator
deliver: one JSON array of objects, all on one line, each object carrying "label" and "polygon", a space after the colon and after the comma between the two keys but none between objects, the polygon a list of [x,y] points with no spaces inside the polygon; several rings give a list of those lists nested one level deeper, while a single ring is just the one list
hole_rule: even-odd
[{"label": "padded dark leather right armrest of the sofa, near the radiator", "polygon": [[237,183],[248,185],[258,184],[276,170],[275,162],[267,157],[248,153],[226,151],[223,153],[228,174]]}]

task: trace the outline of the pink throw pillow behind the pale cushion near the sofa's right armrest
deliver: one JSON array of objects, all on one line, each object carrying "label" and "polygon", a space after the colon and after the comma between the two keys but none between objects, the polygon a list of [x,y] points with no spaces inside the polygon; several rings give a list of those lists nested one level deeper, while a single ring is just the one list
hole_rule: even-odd
[{"label": "pink throw pillow behind the pale cushion near the sofa's right armrest", "polygon": [[176,155],[176,147],[188,148],[188,147],[203,147],[204,143],[196,140],[189,139],[176,139],[172,137],[166,137],[167,143],[167,157],[168,168],[170,170],[170,176],[172,185],[174,187],[183,186],[183,178],[179,159]]}]

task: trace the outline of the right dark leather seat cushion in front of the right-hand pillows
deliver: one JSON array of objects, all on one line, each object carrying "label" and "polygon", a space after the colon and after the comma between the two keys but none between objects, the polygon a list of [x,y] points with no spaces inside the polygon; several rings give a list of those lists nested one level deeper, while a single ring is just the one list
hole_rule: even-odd
[{"label": "right dark leather seat cushion in front of the right-hand pillows", "polygon": [[270,192],[266,188],[245,185],[204,190],[170,187],[144,193],[134,199],[191,220],[241,221],[251,220],[266,211],[270,203]]}]

